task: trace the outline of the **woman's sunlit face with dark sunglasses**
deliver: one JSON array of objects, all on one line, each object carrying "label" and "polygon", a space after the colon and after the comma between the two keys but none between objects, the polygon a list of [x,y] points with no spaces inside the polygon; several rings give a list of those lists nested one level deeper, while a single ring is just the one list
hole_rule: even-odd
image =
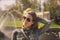
[{"label": "woman's sunlit face with dark sunglasses", "polygon": [[30,28],[33,24],[33,18],[30,14],[24,14],[22,18],[23,26],[26,28]]}]

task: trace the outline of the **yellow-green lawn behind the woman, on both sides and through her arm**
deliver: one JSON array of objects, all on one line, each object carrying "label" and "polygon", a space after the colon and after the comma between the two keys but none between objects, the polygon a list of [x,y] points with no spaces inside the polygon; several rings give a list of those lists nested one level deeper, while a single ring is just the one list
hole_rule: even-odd
[{"label": "yellow-green lawn behind the woman, on both sides and through her arm", "polygon": [[[16,26],[17,27],[20,27],[20,26],[23,26],[22,25],[22,21],[20,21],[20,20],[17,20],[17,21],[15,21],[15,23],[16,23]],[[7,26],[14,26],[15,25],[15,23],[14,23],[14,21],[7,21],[6,23],[5,23],[5,25]],[[38,22],[38,28],[41,28],[42,26],[43,26],[44,24],[43,23],[39,23]],[[52,22],[52,24],[50,25],[50,28],[59,28],[60,27],[60,25],[57,25],[55,22]]]}]

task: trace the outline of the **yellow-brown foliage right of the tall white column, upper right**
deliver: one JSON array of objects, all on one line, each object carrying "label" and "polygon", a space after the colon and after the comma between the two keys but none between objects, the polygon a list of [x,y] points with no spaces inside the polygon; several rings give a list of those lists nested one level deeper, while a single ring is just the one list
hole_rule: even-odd
[{"label": "yellow-brown foliage right of the tall white column, upper right", "polygon": [[44,3],[44,11],[50,11],[51,19],[55,19],[56,16],[57,0],[48,0]]}]

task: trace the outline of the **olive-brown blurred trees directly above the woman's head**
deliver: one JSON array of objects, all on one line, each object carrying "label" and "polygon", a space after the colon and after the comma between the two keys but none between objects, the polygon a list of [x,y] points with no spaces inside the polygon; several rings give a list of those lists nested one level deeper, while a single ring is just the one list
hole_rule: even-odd
[{"label": "olive-brown blurred trees directly above the woman's head", "polygon": [[39,7],[40,7],[40,4],[37,2],[37,0],[21,0],[21,3],[23,4],[24,10],[26,8],[39,10]]}]

